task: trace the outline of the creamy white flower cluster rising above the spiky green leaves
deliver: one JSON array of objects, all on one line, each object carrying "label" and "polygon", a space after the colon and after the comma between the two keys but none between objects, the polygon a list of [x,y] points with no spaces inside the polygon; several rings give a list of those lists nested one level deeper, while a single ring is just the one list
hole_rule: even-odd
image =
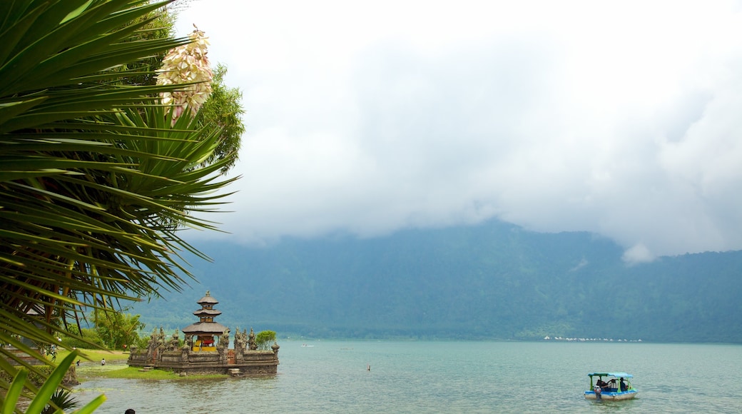
[{"label": "creamy white flower cluster rising above the spiky green leaves", "polygon": [[183,114],[185,108],[196,114],[211,95],[211,79],[214,73],[209,67],[209,58],[206,57],[209,41],[201,30],[191,33],[191,42],[171,49],[165,59],[162,59],[162,68],[157,70],[157,85],[174,85],[194,83],[185,86],[179,91],[161,93],[163,105],[173,105],[173,122]]}]

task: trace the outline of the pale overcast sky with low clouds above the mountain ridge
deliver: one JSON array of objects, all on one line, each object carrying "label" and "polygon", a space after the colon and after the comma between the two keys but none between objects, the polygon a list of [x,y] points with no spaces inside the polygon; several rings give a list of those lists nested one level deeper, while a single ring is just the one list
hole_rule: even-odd
[{"label": "pale overcast sky with low clouds above the mountain ridge", "polygon": [[197,0],[243,92],[240,243],[493,217],[742,249],[741,1]]}]

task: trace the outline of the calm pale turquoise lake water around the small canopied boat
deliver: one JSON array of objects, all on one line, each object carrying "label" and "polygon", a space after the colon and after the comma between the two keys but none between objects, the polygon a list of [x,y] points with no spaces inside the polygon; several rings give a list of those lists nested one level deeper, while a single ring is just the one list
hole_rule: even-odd
[{"label": "calm pale turquoise lake water around the small canopied boat", "polygon": [[[742,346],[315,341],[280,343],[278,374],[217,381],[96,379],[96,413],[742,413]],[[370,364],[371,370],[367,370]],[[626,371],[631,401],[587,401],[588,372]]]}]

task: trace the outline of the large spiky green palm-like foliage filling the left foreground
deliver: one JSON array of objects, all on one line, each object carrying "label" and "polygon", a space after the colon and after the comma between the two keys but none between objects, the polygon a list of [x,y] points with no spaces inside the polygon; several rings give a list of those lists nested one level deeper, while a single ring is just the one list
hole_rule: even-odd
[{"label": "large spiky green palm-like foliage filling the left foreground", "polygon": [[[234,180],[226,161],[204,163],[219,131],[160,105],[182,86],[122,82],[142,75],[132,62],[190,42],[141,40],[169,2],[0,1],[0,342],[42,361],[21,338],[52,344],[80,309],[180,290],[179,252],[203,254],[177,231],[213,229],[191,213]],[[42,375],[0,354],[11,377],[8,360]]]}]

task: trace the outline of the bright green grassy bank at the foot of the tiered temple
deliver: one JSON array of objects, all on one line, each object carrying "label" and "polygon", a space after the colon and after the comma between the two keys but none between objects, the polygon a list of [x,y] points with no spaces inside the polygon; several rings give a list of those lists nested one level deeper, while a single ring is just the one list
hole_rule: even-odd
[{"label": "bright green grassy bank at the foot of the tiered temple", "polygon": [[[128,378],[143,380],[177,380],[190,381],[207,378],[228,378],[228,375],[188,375],[180,376],[171,371],[163,369],[151,369],[143,371],[139,367],[129,367],[126,360],[129,358],[128,352],[122,351],[102,351],[100,349],[78,349],[82,357],[79,358],[79,365],[76,365],[77,379],[84,382],[90,378]],[[61,349],[57,355],[58,360],[64,359],[69,355],[69,351]],[[105,365],[101,360],[105,359]]]}]

